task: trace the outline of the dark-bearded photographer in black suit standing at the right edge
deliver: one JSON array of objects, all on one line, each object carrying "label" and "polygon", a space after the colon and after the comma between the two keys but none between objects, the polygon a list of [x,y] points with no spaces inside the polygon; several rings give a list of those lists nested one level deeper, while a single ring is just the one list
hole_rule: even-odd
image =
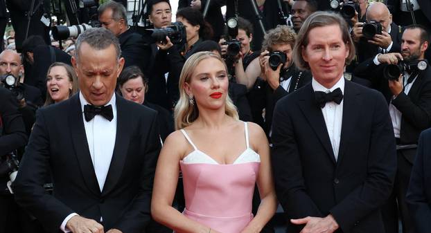
[{"label": "dark-bearded photographer in black suit standing at the right edge", "polygon": [[405,204],[405,194],[419,133],[431,126],[431,68],[423,60],[429,44],[429,33],[423,26],[407,26],[403,32],[401,54],[379,54],[360,64],[355,71],[356,75],[368,77],[378,84],[387,98],[398,145],[394,196],[383,213],[387,216],[388,233],[394,232],[398,226],[394,198],[398,199],[403,232],[415,232]]}]

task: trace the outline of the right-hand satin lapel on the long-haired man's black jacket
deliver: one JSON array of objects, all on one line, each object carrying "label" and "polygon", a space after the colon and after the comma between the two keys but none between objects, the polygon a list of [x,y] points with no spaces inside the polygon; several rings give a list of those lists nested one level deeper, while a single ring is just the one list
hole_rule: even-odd
[{"label": "right-hand satin lapel on the long-haired man's black jacket", "polygon": [[[356,122],[361,111],[361,102],[358,100],[360,92],[355,86],[346,80],[344,84],[343,119],[341,125],[340,147],[338,149],[337,164],[340,164],[346,145],[349,145],[349,135],[355,133]],[[350,142],[354,143],[354,142]]]}]

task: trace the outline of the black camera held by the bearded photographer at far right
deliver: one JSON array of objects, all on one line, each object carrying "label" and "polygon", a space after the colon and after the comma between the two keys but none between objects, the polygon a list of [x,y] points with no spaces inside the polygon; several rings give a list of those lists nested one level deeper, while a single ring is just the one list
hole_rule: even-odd
[{"label": "black camera held by the bearded photographer at far right", "polygon": [[413,62],[401,61],[398,64],[389,64],[383,69],[383,76],[387,80],[398,80],[401,74],[405,71],[423,71],[428,67],[426,59],[417,60]]}]

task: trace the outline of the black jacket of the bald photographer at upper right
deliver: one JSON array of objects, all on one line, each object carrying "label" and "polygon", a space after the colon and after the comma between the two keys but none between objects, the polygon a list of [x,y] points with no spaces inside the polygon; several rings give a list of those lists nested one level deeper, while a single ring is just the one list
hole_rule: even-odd
[{"label": "black jacket of the bald photographer at upper right", "polygon": [[[392,47],[386,53],[400,53],[401,52],[401,36],[403,35],[402,28],[396,24],[391,24]],[[379,53],[378,46],[368,43],[367,39],[361,38],[358,43],[358,62],[364,62],[364,60],[370,57],[374,58]]]}]

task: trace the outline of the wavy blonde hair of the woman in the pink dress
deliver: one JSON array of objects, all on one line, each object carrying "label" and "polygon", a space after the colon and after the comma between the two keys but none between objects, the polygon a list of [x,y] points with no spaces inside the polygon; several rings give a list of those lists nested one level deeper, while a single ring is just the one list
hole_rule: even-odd
[{"label": "wavy blonde hair of the woman in the pink dress", "polygon": [[[179,100],[175,105],[175,129],[183,129],[188,127],[199,116],[197,104],[190,104],[189,97],[184,87],[186,83],[190,83],[191,75],[193,74],[193,71],[195,71],[196,66],[202,62],[202,60],[208,58],[218,59],[220,62],[222,62],[227,71],[225,62],[219,55],[216,55],[215,53],[198,52],[191,55],[191,57],[188,57],[182,68],[181,75],[179,76]],[[236,120],[239,119],[236,106],[232,102],[231,98],[229,98],[229,95],[226,97],[225,113]]]}]

